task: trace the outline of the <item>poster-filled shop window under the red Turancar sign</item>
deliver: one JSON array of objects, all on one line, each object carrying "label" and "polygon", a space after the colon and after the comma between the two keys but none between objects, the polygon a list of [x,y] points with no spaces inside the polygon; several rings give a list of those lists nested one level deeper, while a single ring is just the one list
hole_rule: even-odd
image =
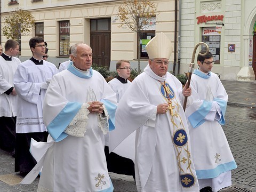
[{"label": "poster-filled shop window under the red Turancar sign", "polygon": [[[202,42],[209,46],[215,63],[220,63],[220,31],[216,31],[215,27],[203,27]],[[206,47],[202,46],[202,50],[206,50]]]}]

